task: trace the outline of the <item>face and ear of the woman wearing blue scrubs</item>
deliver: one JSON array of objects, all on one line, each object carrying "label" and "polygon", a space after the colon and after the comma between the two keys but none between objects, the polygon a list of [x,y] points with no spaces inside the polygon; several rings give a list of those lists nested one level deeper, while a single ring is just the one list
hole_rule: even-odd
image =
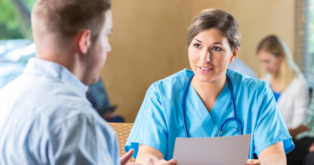
[{"label": "face and ear of the woman wearing blue scrubs", "polygon": [[217,29],[199,32],[188,47],[191,68],[202,82],[218,78],[225,80],[228,64],[237,56],[239,48],[231,51],[227,37]]}]

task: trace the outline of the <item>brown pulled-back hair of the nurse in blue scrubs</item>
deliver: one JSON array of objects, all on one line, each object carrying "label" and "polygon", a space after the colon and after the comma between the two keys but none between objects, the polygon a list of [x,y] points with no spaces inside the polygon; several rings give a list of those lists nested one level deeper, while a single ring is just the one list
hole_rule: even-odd
[{"label": "brown pulled-back hair of the nurse in blue scrubs", "polygon": [[218,29],[228,38],[231,51],[236,47],[240,48],[241,34],[237,19],[232,14],[220,8],[210,8],[203,10],[192,21],[187,29],[187,48],[192,39],[199,33],[207,29]]}]

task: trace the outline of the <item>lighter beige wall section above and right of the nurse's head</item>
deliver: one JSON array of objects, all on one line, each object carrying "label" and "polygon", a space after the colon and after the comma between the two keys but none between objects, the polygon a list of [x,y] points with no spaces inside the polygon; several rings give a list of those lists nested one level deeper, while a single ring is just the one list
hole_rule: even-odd
[{"label": "lighter beige wall section above and right of the nurse's head", "polygon": [[261,75],[256,47],[265,36],[275,34],[294,52],[295,0],[194,0],[193,19],[205,8],[222,8],[234,14],[242,34],[239,58]]}]

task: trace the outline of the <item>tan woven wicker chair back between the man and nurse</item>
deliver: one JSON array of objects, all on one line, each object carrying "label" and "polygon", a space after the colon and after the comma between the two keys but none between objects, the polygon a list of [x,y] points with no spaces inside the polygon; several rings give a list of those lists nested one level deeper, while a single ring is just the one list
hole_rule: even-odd
[{"label": "tan woven wicker chair back between the man and nurse", "polygon": [[[120,149],[120,157],[126,154],[124,145],[127,142],[127,138],[129,137],[130,131],[133,127],[133,123],[108,123],[117,134],[119,149]],[[129,162],[135,162],[134,158],[131,158]]]}]

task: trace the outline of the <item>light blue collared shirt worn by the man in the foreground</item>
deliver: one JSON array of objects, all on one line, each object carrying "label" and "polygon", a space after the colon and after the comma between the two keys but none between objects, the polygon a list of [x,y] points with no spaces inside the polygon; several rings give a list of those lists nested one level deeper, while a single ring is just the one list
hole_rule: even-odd
[{"label": "light blue collared shirt worn by the man in the foreground", "polygon": [[119,165],[113,129],[68,69],[31,58],[0,90],[0,165]]}]

